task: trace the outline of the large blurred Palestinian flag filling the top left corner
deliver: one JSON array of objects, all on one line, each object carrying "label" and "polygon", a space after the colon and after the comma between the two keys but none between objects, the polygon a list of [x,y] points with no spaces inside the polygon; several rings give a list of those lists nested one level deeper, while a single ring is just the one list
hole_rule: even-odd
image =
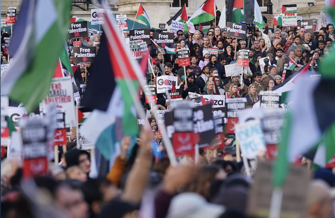
[{"label": "large blurred Palestinian flag filling the top left corner", "polygon": [[67,39],[71,4],[68,0],[23,0],[20,8],[9,48],[13,62],[1,80],[1,94],[22,102],[29,113],[49,92]]}]

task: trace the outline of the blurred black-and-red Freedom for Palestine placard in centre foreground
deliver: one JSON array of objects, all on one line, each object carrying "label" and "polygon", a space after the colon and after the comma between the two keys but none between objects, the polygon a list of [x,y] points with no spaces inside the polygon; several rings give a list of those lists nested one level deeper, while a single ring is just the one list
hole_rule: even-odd
[{"label": "blurred black-and-red Freedom for Palestine placard in centre foreground", "polygon": [[[176,156],[194,155],[194,144],[198,142],[193,132],[193,108],[191,102],[175,102],[173,110],[173,127],[172,142]],[[165,122],[167,121],[165,113]]]}]

